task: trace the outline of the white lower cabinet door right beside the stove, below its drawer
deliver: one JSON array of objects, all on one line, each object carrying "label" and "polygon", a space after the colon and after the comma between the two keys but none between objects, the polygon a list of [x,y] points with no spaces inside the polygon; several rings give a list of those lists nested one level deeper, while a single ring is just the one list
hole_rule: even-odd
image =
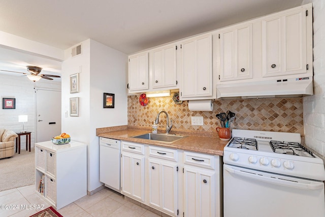
[{"label": "white lower cabinet door right beside the stove, below its drawer", "polygon": [[184,167],[185,216],[216,216],[215,185],[213,170]]}]

